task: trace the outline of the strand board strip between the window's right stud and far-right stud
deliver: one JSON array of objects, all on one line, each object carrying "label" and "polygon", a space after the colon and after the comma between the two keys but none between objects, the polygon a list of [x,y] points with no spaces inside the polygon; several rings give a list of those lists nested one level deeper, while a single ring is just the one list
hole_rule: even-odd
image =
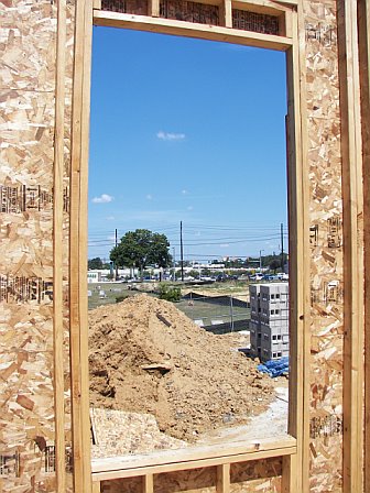
[{"label": "strand board strip between the window's right stud and far-right stud", "polygon": [[335,1],[305,1],[311,222],[311,491],[342,484],[342,205]]}]

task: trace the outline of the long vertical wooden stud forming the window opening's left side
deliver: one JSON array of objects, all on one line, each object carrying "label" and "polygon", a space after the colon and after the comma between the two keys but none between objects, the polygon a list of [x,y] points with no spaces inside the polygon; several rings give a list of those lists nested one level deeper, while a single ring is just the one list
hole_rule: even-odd
[{"label": "long vertical wooden stud forming the window opening's left side", "polygon": [[[88,325],[87,325],[87,165],[90,105],[92,2],[77,0],[75,20],[70,164],[69,328],[75,493],[91,491]],[[78,273],[76,275],[76,273]]]}]

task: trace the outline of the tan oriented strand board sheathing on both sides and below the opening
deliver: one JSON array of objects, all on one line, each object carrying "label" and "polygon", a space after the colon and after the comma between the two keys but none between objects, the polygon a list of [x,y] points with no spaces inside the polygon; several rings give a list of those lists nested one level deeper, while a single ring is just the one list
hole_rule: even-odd
[{"label": "tan oriented strand board sheathing on both sides and below the opening", "polygon": [[[177,2],[176,8],[184,2]],[[347,2],[349,3],[349,2]],[[63,403],[70,450],[68,228],[72,55],[75,2],[66,6],[62,188],[54,187],[56,41],[62,1],[0,0],[0,489],[56,491],[53,281],[63,274]],[[311,490],[344,491],[344,218],[337,28],[338,2],[303,0],[311,237]],[[303,32],[304,31],[304,32]],[[53,248],[53,202],[63,195],[63,249]],[[53,269],[53,266],[55,269]],[[61,267],[61,269],[59,269]],[[61,281],[61,280],[59,280]],[[349,328],[350,329],[350,328]],[[61,397],[61,396],[59,396]],[[357,446],[358,443],[353,445]],[[45,457],[48,461],[45,461]],[[64,472],[63,472],[64,474]],[[62,475],[63,475],[62,474]],[[68,491],[72,474],[67,474]],[[214,491],[209,470],[161,474],[156,491]],[[134,491],[138,479],[105,482]],[[178,483],[178,484],[177,484]],[[213,484],[211,484],[213,483]],[[231,467],[231,492],[281,491],[281,462]],[[126,489],[126,490],[124,490]],[[170,490],[168,490],[170,489]],[[347,493],[347,492],[346,492]],[[357,492],[356,492],[357,493]]]}]

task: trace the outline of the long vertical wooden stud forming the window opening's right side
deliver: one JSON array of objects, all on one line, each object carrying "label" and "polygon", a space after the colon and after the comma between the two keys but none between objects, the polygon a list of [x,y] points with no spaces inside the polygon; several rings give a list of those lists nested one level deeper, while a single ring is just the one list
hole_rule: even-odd
[{"label": "long vertical wooden stud forming the window opening's right side", "polygon": [[[308,172],[304,95],[304,44],[298,43],[297,12],[292,13],[293,47],[286,53],[287,66],[287,196],[290,224],[290,399],[289,432],[297,439],[296,475],[300,487],[308,487],[308,461],[304,461],[304,450],[308,448],[308,386],[305,375],[309,374],[309,276],[308,251]],[[292,478],[291,475],[289,478]]]}]

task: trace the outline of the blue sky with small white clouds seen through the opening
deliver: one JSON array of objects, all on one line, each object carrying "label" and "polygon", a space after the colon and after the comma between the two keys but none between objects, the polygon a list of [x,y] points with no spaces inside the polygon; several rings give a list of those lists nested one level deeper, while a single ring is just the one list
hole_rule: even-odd
[{"label": "blue sky with small white clouds seen through the opening", "polygon": [[285,113],[283,53],[94,28],[89,258],[116,228],[178,258],[179,221],[186,260],[278,252]]}]

